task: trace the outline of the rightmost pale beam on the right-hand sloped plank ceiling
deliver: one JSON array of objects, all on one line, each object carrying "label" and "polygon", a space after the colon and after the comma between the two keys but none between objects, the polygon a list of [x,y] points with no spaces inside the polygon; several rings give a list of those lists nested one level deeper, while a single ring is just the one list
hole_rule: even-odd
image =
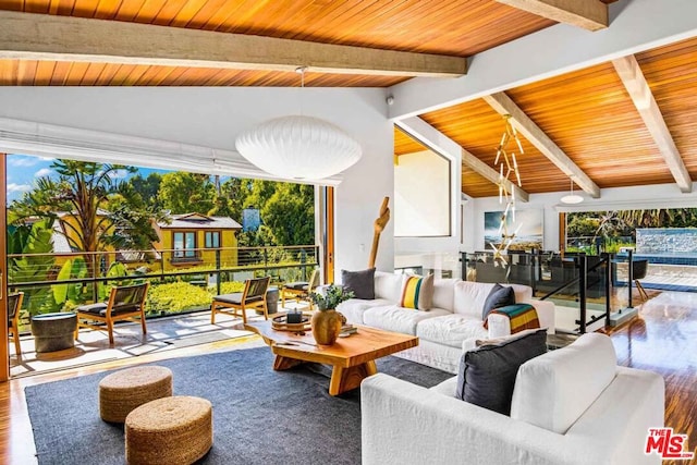
[{"label": "rightmost pale beam on the right-hand sloped plank ceiling", "polygon": [[673,174],[681,192],[692,192],[693,181],[689,178],[689,172],[675,146],[673,136],[665,124],[656,98],[653,98],[653,93],[646,82],[644,72],[641,72],[641,68],[639,63],[637,63],[636,58],[631,54],[612,60],[612,64],[617,71],[617,75],[622,79],[624,87],[626,87],[629,93],[634,106],[639,111],[644,124],[646,124],[658,149],[665,159],[665,163],[671,170],[671,174]]}]

